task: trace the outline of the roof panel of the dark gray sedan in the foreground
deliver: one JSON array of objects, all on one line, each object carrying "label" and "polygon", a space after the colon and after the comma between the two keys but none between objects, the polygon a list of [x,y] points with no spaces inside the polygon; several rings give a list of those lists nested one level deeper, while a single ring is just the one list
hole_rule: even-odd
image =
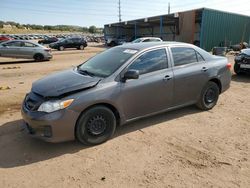
[{"label": "roof panel of the dark gray sedan in the foreground", "polygon": [[135,50],[144,50],[147,48],[154,48],[154,47],[161,47],[161,46],[187,46],[187,47],[193,47],[194,45],[184,43],[184,42],[142,42],[142,43],[125,43],[121,46],[122,48],[130,48]]}]

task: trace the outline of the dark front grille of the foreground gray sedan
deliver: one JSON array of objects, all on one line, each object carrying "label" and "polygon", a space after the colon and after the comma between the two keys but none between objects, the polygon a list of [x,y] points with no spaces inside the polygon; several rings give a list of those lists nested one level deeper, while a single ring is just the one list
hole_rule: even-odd
[{"label": "dark front grille of the foreground gray sedan", "polygon": [[38,110],[39,106],[44,102],[43,97],[30,92],[25,98],[25,107],[30,111]]}]

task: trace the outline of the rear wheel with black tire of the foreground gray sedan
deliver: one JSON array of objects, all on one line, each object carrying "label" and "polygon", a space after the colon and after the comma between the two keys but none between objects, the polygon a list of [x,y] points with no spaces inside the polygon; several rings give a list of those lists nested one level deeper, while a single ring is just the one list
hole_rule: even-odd
[{"label": "rear wheel with black tire of the foreground gray sedan", "polygon": [[216,105],[219,95],[219,86],[215,82],[209,81],[202,89],[200,99],[196,106],[201,110],[210,110]]}]

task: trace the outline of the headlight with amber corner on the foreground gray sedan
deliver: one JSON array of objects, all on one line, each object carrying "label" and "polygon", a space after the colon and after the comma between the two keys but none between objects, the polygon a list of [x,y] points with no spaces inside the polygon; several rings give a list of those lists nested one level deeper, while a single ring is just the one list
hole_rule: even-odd
[{"label": "headlight with amber corner on the foreground gray sedan", "polygon": [[61,110],[64,108],[67,108],[71,103],[74,101],[74,99],[69,100],[56,100],[56,101],[47,101],[40,105],[37,111],[39,112],[54,112],[57,110]]}]

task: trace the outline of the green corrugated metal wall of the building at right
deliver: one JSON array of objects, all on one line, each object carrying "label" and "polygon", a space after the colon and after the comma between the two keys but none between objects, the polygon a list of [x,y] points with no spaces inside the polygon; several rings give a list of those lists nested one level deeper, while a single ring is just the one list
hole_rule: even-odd
[{"label": "green corrugated metal wall of the building at right", "polygon": [[201,47],[210,51],[220,43],[233,45],[249,42],[250,17],[204,9],[202,13]]}]

